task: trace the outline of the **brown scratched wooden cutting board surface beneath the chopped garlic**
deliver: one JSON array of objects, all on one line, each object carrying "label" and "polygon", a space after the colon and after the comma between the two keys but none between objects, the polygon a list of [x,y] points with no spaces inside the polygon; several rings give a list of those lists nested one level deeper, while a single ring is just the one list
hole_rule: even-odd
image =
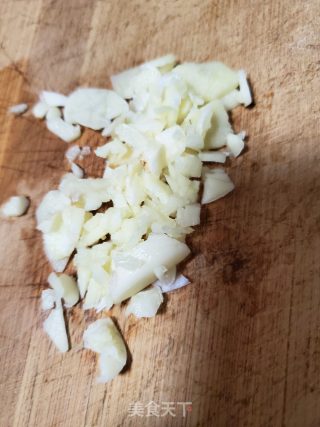
[{"label": "brown scratched wooden cutting board surface beneath the chopped garlic", "polygon": [[[0,222],[0,426],[320,425],[319,2],[2,0],[0,202],[24,193],[28,214]],[[41,89],[109,85],[108,77],[168,53],[245,68],[255,106],[233,114],[248,150],[236,191],[203,208],[184,267],[192,285],[154,319],[114,310],[132,355],[95,384],[81,349],[96,318],[68,313],[72,350],[42,331],[49,267],[35,208],[67,170],[66,144],[7,108]],[[81,144],[99,144],[85,132]],[[101,171],[86,159],[94,176]],[[176,416],[130,416],[130,403],[173,402]],[[177,402],[192,402],[182,416]]]}]

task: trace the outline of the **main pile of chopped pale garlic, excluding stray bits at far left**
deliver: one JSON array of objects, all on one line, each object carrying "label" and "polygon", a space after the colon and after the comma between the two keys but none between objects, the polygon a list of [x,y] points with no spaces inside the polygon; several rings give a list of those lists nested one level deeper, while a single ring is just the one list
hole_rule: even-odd
[{"label": "main pile of chopped pale garlic, excluding stray bits at far left", "polygon": [[[162,292],[190,283],[176,270],[190,253],[186,236],[200,224],[201,184],[203,204],[234,189],[223,169],[202,162],[224,163],[242,151],[245,134],[234,134],[228,111],[252,100],[246,74],[220,62],[176,62],[170,54],[114,75],[114,90],[79,88],[67,97],[43,92],[33,109],[66,142],[80,136],[80,125],[108,138],[95,150],[105,159],[103,177],[84,178],[75,161],[91,150],[70,147],[65,156],[73,173],[36,212],[53,269],[64,271],[75,251],[77,283],[52,273],[54,289],[42,295],[44,307],[56,305],[45,329],[60,349],[68,349],[61,298],[72,306],[80,295],[84,310],[99,312],[131,297],[127,314],[151,317]],[[97,212],[104,203],[112,207]],[[90,325],[84,345],[99,353],[100,382],[126,363],[111,319]]]}]

